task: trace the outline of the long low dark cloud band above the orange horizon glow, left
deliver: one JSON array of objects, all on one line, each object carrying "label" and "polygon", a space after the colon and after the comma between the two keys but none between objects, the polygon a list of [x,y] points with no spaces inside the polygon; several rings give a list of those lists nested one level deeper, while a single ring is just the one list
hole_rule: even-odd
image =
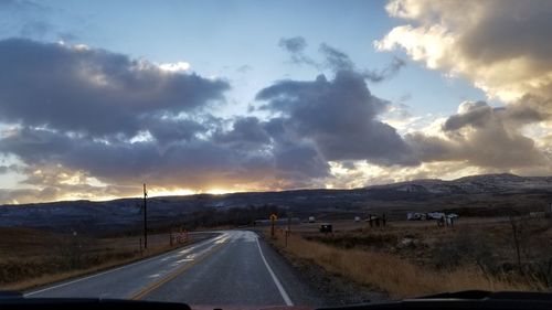
[{"label": "long low dark cloud band above the orange horizon glow, left", "polygon": [[[157,185],[197,190],[235,183],[259,186],[284,182],[293,186],[328,174],[326,161],[307,147],[278,146],[274,152],[266,152],[261,148],[264,142],[252,141],[252,137],[233,133],[229,137],[232,143],[193,139],[173,141],[160,151],[157,141],[107,143],[24,128],[2,139],[0,152],[15,154],[29,164],[26,183],[36,185],[42,179],[35,180],[32,171],[55,164],[118,185],[150,180]],[[244,148],[244,143],[250,147]],[[258,147],[254,148],[255,145]]]}]

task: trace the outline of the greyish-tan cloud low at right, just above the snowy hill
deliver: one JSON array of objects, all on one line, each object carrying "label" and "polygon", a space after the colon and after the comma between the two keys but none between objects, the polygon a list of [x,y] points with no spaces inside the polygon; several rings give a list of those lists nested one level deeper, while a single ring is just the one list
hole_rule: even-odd
[{"label": "greyish-tan cloud low at right, just above the snowy hill", "polygon": [[[521,117],[531,121],[531,117]],[[520,117],[505,108],[492,108],[484,101],[466,101],[458,114],[447,118],[443,136],[414,132],[406,140],[425,162],[463,161],[467,165],[511,171],[541,167],[551,171],[552,158],[524,137]]]}]

